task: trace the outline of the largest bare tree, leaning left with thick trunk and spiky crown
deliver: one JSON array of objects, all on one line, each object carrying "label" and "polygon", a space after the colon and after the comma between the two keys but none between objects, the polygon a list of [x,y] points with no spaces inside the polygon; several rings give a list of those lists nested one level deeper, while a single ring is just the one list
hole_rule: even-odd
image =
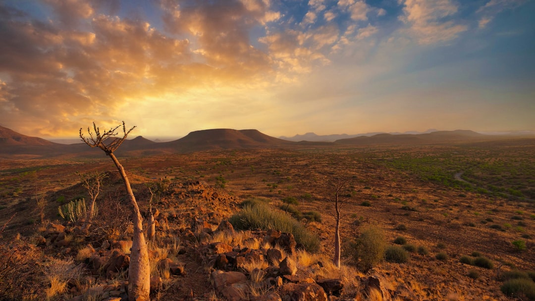
[{"label": "largest bare tree, leaning left with thick trunk and spiky crown", "polygon": [[150,265],[148,246],[143,235],[143,218],[139,206],[130,186],[130,181],[125,172],[123,165],[119,163],[117,157],[113,154],[115,150],[125,141],[126,136],[135,128],[132,127],[126,130],[125,122],[123,121],[123,137],[116,137],[118,135],[117,129],[121,125],[110,128],[104,133],[93,122],[93,132],[87,128],[89,137],[84,137],[82,128],[80,128],[80,138],[87,145],[92,148],[97,147],[109,156],[113,164],[117,167],[121,178],[125,184],[126,192],[128,194],[130,203],[132,205],[132,220],[134,223],[134,237],[132,238],[132,251],[130,254],[130,265],[128,267],[128,300],[129,301],[146,301],[149,300],[150,292]]}]

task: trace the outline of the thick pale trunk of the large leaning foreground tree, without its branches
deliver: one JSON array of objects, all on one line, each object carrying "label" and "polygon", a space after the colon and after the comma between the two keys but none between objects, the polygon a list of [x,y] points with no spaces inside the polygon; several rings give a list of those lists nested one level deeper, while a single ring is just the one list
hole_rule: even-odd
[{"label": "thick pale trunk of the large leaning foreground tree, without its branches", "polygon": [[128,267],[128,301],[147,301],[150,293],[150,264],[148,246],[143,235],[143,218],[123,165],[119,163],[113,153],[106,153],[106,155],[110,156],[115,166],[117,166],[132,203],[134,237],[132,238],[132,251]]}]

